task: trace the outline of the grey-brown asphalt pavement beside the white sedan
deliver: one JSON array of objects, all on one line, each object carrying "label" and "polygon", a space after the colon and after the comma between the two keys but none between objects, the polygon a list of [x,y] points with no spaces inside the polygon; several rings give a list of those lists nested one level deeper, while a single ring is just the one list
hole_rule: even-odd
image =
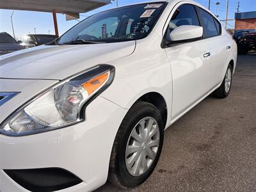
[{"label": "grey-brown asphalt pavement beside the white sedan", "polygon": [[164,133],[156,170],[135,189],[256,191],[256,53],[239,56],[227,99],[207,97]]}]

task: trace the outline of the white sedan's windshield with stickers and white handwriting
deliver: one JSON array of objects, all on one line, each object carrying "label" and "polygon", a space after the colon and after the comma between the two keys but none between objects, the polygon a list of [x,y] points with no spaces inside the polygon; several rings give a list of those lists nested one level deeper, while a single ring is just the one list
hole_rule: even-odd
[{"label": "white sedan's windshield with stickers and white handwriting", "polygon": [[67,31],[58,44],[110,43],[145,38],[165,6],[166,2],[136,4],[97,13]]}]

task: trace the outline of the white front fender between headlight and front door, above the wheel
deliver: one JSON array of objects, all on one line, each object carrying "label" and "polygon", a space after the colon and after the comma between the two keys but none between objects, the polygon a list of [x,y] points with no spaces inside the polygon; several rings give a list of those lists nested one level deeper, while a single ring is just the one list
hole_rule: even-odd
[{"label": "white front fender between headlight and front door, above the wheel", "polygon": [[130,109],[141,96],[157,92],[164,97],[170,117],[172,72],[161,40],[156,33],[138,40],[133,54],[109,63],[116,68],[115,79],[102,97]]}]

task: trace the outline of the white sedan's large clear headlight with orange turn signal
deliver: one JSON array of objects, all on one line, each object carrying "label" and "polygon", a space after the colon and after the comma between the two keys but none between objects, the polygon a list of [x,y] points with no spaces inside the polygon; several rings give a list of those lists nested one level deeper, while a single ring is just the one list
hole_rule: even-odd
[{"label": "white sedan's large clear headlight with orange turn signal", "polygon": [[115,68],[98,65],[61,81],[7,118],[0,132],[24,136],[59,129],[84,120],[84,109],[112,83]]}]

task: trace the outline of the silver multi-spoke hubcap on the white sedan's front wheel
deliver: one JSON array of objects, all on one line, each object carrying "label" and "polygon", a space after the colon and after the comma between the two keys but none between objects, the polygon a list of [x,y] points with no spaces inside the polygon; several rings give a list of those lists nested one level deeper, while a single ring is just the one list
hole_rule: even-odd
[{"label": "silver multi-spoke hubcap on the white sedan's front wheel", "polygon": [[160,132],[156,120],[146,117],[134,127],[125,150],[125,164],[133,176],[147,172],[159,148]]}]

